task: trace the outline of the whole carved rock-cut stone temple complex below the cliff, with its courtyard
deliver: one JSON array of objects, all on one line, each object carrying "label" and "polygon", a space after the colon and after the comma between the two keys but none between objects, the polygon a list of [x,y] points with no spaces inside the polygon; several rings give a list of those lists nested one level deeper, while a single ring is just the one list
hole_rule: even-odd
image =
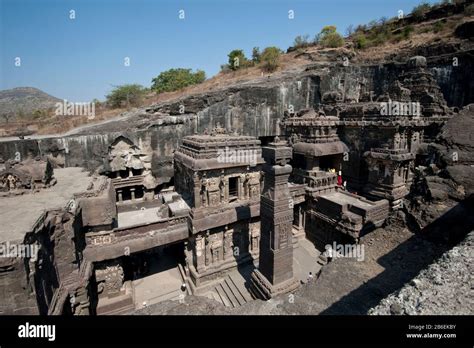
[{"label": "whole carved rock-cut stone temple complex below the cliff, with its courtyard", "polygon": [[[146,110],[157,117],[146,131],[2,145],[0,208],[13,222],[0,313],[127,314],[189,295],[238,307],[295,291],[325,267],[326,245],[390,224],[455,112],[424,57],[362,78],[334,69],[290,82],[296,111],[263,130],[267,109],[254,126],[239,107],[202,125],[201,111],[168,105]],[[256,110],[255,93],[274,98],[252,88],[239,98]],[[13,255],[14,243],[31,252]]]}]

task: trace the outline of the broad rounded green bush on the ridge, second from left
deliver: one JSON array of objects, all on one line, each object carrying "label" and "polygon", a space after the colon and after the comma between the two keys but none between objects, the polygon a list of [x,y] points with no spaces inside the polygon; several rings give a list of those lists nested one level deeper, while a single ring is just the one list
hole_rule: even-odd
[{"label": "broad rounded green bush on the ridge, second from left", "polygon": [[151,80],[151,89],[156,93],[172,92],[190,85],[196,85],[206,79],[206,73],[197,70],[195,73],[191,69],[169,69]]}]

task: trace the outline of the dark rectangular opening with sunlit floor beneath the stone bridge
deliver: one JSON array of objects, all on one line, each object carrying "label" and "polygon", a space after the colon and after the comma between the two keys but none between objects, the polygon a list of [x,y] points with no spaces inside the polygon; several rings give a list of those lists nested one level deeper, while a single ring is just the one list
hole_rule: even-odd
[{"label": "dark rectangular opening with sunlit floor beneath the stone bridge", "polygon": [[130,255],[124,261],[124,277],[130,280],[135,308],[184,298],[184,242]]}]

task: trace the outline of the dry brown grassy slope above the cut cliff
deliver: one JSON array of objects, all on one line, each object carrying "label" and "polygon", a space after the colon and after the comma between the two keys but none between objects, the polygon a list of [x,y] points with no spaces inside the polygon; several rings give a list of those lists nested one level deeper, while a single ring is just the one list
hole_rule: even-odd
[{"label": "dry brown grassy slope above the cut cliff", "polygon": [[[262,71],[260,66],[222,71],[201,84],[179,91],[151,93],[137,110],[124,112],[123,109],[97,108],[93,120],[79,116],[67,119],[50,116],[40,120],[30,119],[35,123],[35,127],[32,127],[32,124],[28,126],[37,134],[81,134],[86,124],[88,134],[102,133],[104,126],[101,124],[104,123],[107,124],[107,129],[123,129],[123,124],[120,123],[124,123],[127,128],[133,128],[136,126],[135,120],[137,123],[145,118],[153,120],[157,111],[163,110],[166,113],[170,105],[173,108],[178,105],[176,110],[180,109],[179,105],[184,105],[186,113],[190,110],[200,111],[223,95],[233,95],[236,90],[252,89],[257,85],[260,89],[266,88],[267,85],[278,81],[299,79],[298,75],[302,73],[317,73],[318,70],[340,66],[344,62],[348,62],[350,67],[359,66],[363,69],[365,65],[405,62],[415,55],[427,57],[448,105],[461,108],[474,102],[473,13],[474,4],[470,1],[437,5],[421,16],[407,15],[403,19],[390,19],[385,24],[362,25],[365,29],[359,34],[363,33],[370,41],[370,45],[364,48],[358,47],[360,43],[357,34],[346,37],[344,46],[337,49],[327,49],[317,44],[290,47],[287,53],[281,55],[278,69],[271,74]],[[384,28],[388,28],[388,34]],[[339,30],[342,31],[343,28]],[[385,36],[379,35],[379,32],[383,32]],[[459,63],[456,67],[453,66],[454,58]],[[200,100],[204,99],[207,101],[201,103]],[[198,106],[199,109],[196,108]],[[117,119],[119,121],[115,122]],[[0,117],[0,123],[2,121],[4,120]],[[98,127],[89,127],[95,124],[98,124]],[[5,125],[1,125],[0,135],[2,127],[5,128]],[[19,132],[18,129],[5,128],[4,133],[8,136],[18,135]]]}]

